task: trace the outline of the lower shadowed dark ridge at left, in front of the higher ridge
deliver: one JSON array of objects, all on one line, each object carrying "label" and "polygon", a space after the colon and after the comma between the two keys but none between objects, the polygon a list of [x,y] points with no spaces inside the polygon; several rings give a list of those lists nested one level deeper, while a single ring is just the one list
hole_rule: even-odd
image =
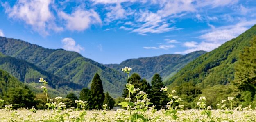
[{"label": "lower shadowed dark ridge at left, in front of the higher ridge", "polygon": [[45,78],[50,87],[56,89],[57,91],[61,90],[61,92],[54,94],[54,96],[58,96],[61,93],[66,94],[72,90],[82,89],[81,85],[69,82],[68,80],[55,76],[49,72],[45,72],[27,61],[5,56],[1,52],[0,69],[7,71],[12,76],[18,78],[19,81],[22,81],[25,84],[33,85],[34,87],[39,86],[40,88],[41,83],[39,84],[38,82],[39,78]]}]

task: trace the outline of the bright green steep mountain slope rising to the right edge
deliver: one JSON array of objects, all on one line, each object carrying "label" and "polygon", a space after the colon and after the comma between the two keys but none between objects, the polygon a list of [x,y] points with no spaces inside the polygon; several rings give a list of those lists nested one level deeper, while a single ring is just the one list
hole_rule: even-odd
[{"label": "bright green steep mountain slope rising to the right edge", "polygon": [[[235,96],[236,93],[234,93],[234,91],[236,91],[237,88],[232,86],[235,66],[237,61],[240,60],[239,55],[245,47],[249,46],[249,42],[254,36],[256,36],[256,25],[238,37],[222,44],[215,50],[207,52],[194,61],[191,61],[177,72],[177,74],[169,78],[166,81],[166,85],[169,85],[170,89],[182,90],[189,88],[187,90],[190,91],[184,90],[184,93],[180,94],[185,95],[187,98],[192,94],[197,94],[197,96],[200,94],[208,95],[209,98],[212,97],[212,101],[209,101],[215,105],[218,103],[216,102],[217,100],[221,102],[221,99],[227,98],[228,95],[232,96],[231,94],[233,94],[233,96]],[[214,94],[212,94],[213,92]],[[220,98],[219,95],[222,98]],[[188,99],[187,102],[196,99],[197,98],[191,98]]]}]

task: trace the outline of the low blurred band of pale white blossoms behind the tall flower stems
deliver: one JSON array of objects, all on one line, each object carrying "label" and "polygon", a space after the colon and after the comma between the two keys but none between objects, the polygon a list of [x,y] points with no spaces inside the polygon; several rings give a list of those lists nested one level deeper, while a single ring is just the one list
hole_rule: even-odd
[{"label": "low blurred band of pale white blossoms behind the tall flower stems", "polygon": [[[13,113],[14,112],[14,113]],[[80,113],[82,111],[78,111]],[[106,114],[102,114],[102,111],[93,110],[86,111],[84,120],[82,122],[129,122],[129,112],[127,110],[117,110],[117,111],[104,111]],[[195,122],[195,121],[205,121],[208,122],[207,117],[201,114],[201,110],[183,110],[177,111],[177,118],[174,120],[171,116],[165,115],[165,110],[156,111],[156,113],[149,114],[149,122]],[[252,109],[233,111],[233,118],[230,114],[223,113],[223,110],[212,110],[211,122],[255,122],[256,111]],[[69,119],[65,114],[70,114]],[[64,122],[77,122],[80,117],[76,115],[76,111],[65,110],[61,111],[61,115],[64,114]],[[1,122],[44,122],[48,119],[48,111],[46,110],[36,110],[36,113],[32,113],[27,109],[19,109],[16,111],[0,111],[0,121]],[[53,111],[50,111],[51,118],[57,118]],[[55,117],[54,117],[55,116]],[[12,121],[11,121],[12,120]],[[123,121],[121,121],[123,120]],[[228,121],[227,121],[228,120]],[[140,120],[143,122],[143,120]],[[56,122],[54,120],[50,122]],[[209,120],[210,122],[210,120]]]}]

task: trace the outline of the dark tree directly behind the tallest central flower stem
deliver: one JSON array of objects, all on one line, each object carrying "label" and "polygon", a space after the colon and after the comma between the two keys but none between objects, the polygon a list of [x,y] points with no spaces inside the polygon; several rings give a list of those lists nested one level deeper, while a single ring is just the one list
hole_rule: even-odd
[{"label": "dark tree directly behind the tallest central flower stem", "polygon": [[[129,81],[127,80],[127,83],[129,83]],[[139,88],[140,91],[144,91],[147,94],[150,92],[150,84],[147,83],[146,79],[141,79],[140,75],[137,73],[133,73],[130,77],[130,83],[134,85],[134,88]],[[122,97],[129,97],[129,91],[125,86],[125,89],[123,90],[123,94]],[[136,94],[131,94],[131,101],[132,102],[136,102],[137,99],[135,98]]]}]

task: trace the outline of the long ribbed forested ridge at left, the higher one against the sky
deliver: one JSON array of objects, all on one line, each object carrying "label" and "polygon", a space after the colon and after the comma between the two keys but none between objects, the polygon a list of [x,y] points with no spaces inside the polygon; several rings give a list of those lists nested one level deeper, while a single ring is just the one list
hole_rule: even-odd
[{"label": "long ribbed forested ridge at left, the higher one against the sky", "polygon": [[25,60],[81,87],[90,87],[91,79],[97,72],[102,79],[104,91],[108,91],[113,97],[120,96],[126,83],[124,74],[85,58],[77,52],[47,49],[19,39],[5,37],[0,37],[0,52]]}]

